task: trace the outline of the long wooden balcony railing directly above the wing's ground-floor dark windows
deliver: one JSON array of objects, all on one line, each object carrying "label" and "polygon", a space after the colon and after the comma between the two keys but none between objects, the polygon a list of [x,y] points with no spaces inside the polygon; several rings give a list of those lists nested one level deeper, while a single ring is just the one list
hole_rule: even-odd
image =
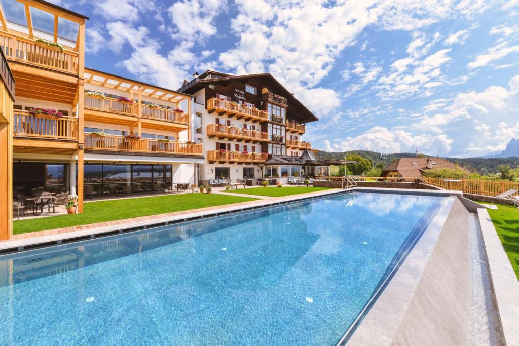
[{"label": "long wooden balcony railing directly above the wing's ground-floor dark windows", "polygon": [[127,139],[121,136],[98,136],[93,134],[85,134],[85,149],[128,151],[133,153],[202,155],[202,145],[200,143]]}]

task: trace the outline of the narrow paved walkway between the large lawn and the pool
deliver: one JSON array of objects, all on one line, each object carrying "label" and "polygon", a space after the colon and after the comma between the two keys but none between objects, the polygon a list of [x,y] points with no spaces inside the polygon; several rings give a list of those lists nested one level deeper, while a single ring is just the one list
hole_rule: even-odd
[{"label": "narrow paved walkway between the large lawn and the pool", "polygon": [[[273,201],[276,202],[284,202],[291,201],[296,199],[301,199],[305,197],[314,197],[314,196],[324,196],[329,195],[331,193],[336,193],[338,191],[343,191],[341,189],[330,189],[330,190],[322,190],[316,192],[308,192],[308,193],[299,193],[298,195],[291,195],[285,197],[266,197],[266,196],[255,196],[255,195],[243,195],[238,193],[233,193],[233,196],[250,196],[256,198],[255,201],[248,202],[240,202],[240,203],[231,203],[217,206],[210,206],[200,209],[191,209],[181,212],[174,213],[166,213],[166,214],[158,214],[158,215],[149,215],[149,216],[141,216],[134,217],[123,220],[115,220],[115,221],[107,221],[96,224],[82,225],[82,226],[73,226],[66,228],[57,228],[57,229],[49,229],[45,231],[37,231],[37,232],[29,232],[29,233],[21,233],[14,234],[10,240],[0,241],[0,250],[5,248],[11,248],[13,246],[27,246],[34,245],[38,243],[46,243],[52,242],[60,239],[66,238],[75,238],[75,237],[83,237],[88,236],[89,234],[98,234],[102,232],[110,232],[114,230],[120,229],[128,229],[134,227],[141,227],[145,225],[153,225],[162,222],[176,222],[179,220],[183,220],[184,218],[192,218],[199,217],[204,214],[213,214],[214,212],[225,213],[232,211],[239,211],[240,209],[244,209],[251,206],[262,206],[266,204],[270,204]],[[213,193],[222,193],[225,195],[231,195],[231,193],[227,192],[219,192],[213,191]]]}]

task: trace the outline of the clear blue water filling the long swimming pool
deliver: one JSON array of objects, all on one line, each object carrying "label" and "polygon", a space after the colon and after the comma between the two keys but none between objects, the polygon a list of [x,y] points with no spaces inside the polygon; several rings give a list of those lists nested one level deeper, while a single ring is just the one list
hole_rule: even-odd
[{"label": "clear blue water filling the long swimming pool", "polygon": [[444,201],[354,192],[0,256],[0,344],[334,344]]}]

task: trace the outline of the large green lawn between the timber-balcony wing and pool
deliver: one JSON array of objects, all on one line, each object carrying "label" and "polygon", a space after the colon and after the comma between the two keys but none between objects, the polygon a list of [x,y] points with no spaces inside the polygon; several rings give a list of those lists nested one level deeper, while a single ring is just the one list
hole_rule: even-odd
[{"label": "large green lawn between the timber-balcony wing and pool", "polygon": [[13,222],[12,232],[13,234],[35,232],[253,200],[255,199],[216,195],[215,193],[185,193],[182,195],[88,202],[84,204],[83,214],[17,220]]}]

